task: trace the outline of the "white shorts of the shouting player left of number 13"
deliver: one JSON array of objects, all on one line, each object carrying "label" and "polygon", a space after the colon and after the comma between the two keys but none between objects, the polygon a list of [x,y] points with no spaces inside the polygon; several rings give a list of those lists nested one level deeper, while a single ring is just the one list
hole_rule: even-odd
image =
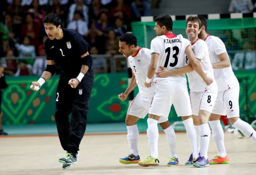
[{"label": "white shorts of the shouting player left of number 13", "polygon": [[[141,93],[139,92],[131,102],[127,114],[139,118],[144,118],[148,113],[152,100],[153,97],[142,97]],[[168,118],[160,117],[158,123],[162,123],[167,120]]]}]

